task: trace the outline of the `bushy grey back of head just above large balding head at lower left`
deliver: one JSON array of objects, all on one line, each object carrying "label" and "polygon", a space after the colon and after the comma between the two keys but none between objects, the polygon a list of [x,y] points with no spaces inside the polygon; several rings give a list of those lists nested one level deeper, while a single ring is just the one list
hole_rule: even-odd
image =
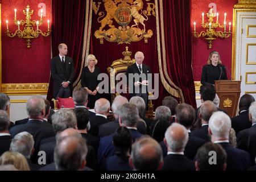
[{"label": "bushy grey back of head just above large balding head at lower left", "polygon": [[70,109],[57,110],[56,113],[52,115],[52,126],[55,133],[68,129],[69,127],[75,129],[77,127],[75,113]]}]

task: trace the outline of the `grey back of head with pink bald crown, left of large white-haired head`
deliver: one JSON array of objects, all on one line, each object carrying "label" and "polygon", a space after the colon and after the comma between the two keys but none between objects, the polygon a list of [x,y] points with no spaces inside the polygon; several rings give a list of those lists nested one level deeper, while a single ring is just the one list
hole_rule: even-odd
[{"label": "grey back of head with pink bald crown, left of large white-haired head", "polygon": [[172,123],[164,134],[168,149],[172,152],[183,152],[188,142],[188,131],[179,123]]}]

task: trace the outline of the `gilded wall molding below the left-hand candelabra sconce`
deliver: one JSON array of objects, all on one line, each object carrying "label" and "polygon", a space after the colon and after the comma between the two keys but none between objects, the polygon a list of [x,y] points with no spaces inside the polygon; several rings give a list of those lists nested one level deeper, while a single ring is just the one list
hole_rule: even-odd
[{"label": "gilded wall molding below the left-hand candelabra sconce", "polygon": [[9,96],[47,95],[48,83],[2,84],[2,93]]}]

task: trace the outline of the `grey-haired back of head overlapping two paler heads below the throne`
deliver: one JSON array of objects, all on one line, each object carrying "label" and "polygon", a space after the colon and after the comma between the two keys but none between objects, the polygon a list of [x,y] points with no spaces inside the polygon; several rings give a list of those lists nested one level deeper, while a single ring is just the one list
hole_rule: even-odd
[{"label": "grey-haired back of head overlapping two paler heads below the throne", "polygon": [[120,109],[119,117],[124,126],[136,127],[139,119],[139,111],[134,104],[124,104]]}]

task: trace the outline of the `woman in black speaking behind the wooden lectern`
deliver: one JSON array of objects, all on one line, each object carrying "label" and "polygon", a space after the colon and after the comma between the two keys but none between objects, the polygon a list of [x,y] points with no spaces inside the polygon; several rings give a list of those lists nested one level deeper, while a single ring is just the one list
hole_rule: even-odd
[{"label": "woman in black speaking behind the wooden lectern", "polygon": [[207,64],[204,65],[201,84],[215,84],[215,80],[228,80],[226,76],[226,68],[221,64],[220,55],[217,51],[210,52]]}]

